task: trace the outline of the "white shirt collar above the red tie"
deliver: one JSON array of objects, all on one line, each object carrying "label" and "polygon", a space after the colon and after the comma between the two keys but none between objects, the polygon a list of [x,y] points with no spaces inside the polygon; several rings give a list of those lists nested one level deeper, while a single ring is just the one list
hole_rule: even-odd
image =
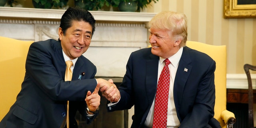
[{"label": "white shirt collar above the red tie", "polygon": [[[183,52],[183,47],[180,47],[180,49],[178,50],[178,52],[176,54],[174,54],[173,56],[168,58],[170,60],[171,64],[174,67],[178,66],[178,64],[180,62],[180,58],[181,58],[182,52]],[[165,59],[166,58],[162,58],[162,57],[159,58],[161,65],[164,65],[163,62],[164,62]]]}]

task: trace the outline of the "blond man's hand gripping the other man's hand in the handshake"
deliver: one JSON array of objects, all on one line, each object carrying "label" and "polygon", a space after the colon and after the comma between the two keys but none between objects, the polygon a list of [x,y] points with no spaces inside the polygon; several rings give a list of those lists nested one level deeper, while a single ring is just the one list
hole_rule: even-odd
[{"label": "blond man's hand gripping the other man's hand in the handshake", "polygon": [[[109,79],[108,82],[110,82],[111,84],[114,83],[112,79]],[[118,102],[118,100],[120,99],[120,92],[116,88],[116,86],[110,86],[109,88],[108,86],[104,86],[100,88],[100,92],[102,92],[102,96],[104,96],[111,102]]]}]

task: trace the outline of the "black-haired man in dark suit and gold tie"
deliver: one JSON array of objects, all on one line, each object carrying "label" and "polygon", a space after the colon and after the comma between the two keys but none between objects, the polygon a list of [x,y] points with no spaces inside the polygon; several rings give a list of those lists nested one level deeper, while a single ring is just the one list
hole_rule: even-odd
[{"label": "black-haired man in dark suit and gold tie", "polygon": [[[0,128],[67,127],[67,101],[69,128],[78,127],[75,120],[77,110],[88,124],[94,120],[100,105],[99,88],[116,88],[104,79],[95,79],[96,66],[82,56],[90,46],[95,22],[90,12],[68,8],[60,20],[59,40],[31,44],[21,91],[0,122]],[[71,81],[64,80],[68,60],[73,63]],[[119,92],[111,90],[115,101],[114,96],[119,98]]]}]

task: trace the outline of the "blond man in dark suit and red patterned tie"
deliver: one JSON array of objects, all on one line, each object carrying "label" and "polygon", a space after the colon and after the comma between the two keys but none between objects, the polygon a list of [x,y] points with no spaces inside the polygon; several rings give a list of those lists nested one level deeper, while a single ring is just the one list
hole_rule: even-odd
[{"label": "blond man in dark suit and red patterned tie", "polygon": [[[130,55],[118,88],[121,98],[108,104],[109,112],[134,106],[132,128],[220,128],[213,118],[216,63],[210,56],[186,46],[186,16],[160,12],[148,26],[152,47]],[[168,66],[166,58],[170,61]],[[167,82],[163,82],[168,88],[161,89],[165,92],[159,96],[164,69],[168,69],[168,77],[164,77]],[[156,101],[166,104],[158,108]],[[155,120],[159,114],[160,118]]]}]

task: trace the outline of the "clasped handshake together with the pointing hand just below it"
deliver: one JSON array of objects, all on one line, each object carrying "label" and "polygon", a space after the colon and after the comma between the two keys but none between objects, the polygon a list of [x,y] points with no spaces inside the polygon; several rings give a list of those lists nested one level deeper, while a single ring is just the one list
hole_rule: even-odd
[{"label": "clasped handshake together with the pointing hand just below it", "polygon": [[120,99],[120,92],[117,89],[112,79],[104,80],[102,78],[96,79],[98,84],[94,90],[94,92],[88,91],[86,94],[86,104],[89,110],[87,110],[88,114],[94,114],[100,106],[100,95],[98,91],[102,93],[106,99],[110,102],[118,102]]}]

